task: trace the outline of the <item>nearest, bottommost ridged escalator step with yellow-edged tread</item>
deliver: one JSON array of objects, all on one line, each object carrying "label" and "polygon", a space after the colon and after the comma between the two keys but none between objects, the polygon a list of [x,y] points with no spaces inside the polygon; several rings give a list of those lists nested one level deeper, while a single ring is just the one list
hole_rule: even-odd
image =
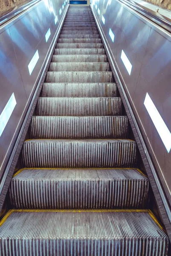
[{"label": "nearest, bottommost ridged escalator step with yellow-edged tread", "polygon": [[[10,210],[0,227],[3,255],[168,255],[150,210]],[[138,253],[138,254],[137,254]]]}]

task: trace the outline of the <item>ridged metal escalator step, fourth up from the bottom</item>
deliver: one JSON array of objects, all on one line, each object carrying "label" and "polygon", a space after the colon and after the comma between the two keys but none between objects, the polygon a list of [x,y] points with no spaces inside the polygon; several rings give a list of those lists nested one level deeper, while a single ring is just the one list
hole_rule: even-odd
[{"label": "ridged metal escalator step, fourth up from the bottom", "polygon": [[32,139],[126,139],[127,116],[33,116]]}]

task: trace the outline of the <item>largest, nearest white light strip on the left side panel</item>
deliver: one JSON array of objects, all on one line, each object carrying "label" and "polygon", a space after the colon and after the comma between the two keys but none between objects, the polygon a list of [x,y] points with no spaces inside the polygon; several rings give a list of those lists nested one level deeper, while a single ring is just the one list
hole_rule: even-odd
[{"label": "largest, nearest white light strip on the left side panel", "polygon": [[9,121],[10,116],[12,115],[12,112],[16,104],[17,102],[15,99],[14,93],[12,93],[12,96],[10,97],[5,108],[3,109],[3,112],[0,114],[0,137],[7,125],[7,122]]}]

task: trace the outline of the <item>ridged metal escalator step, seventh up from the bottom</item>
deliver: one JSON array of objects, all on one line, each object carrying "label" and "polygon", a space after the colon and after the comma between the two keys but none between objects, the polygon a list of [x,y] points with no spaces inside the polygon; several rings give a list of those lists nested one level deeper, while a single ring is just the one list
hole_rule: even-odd
[{"label": "ridged metal escalator step, seventh up from the bottom", "polygon": [[55,72],[49,71],[46,75],[48,83],[111,83],[113,74],[106,72]]}]

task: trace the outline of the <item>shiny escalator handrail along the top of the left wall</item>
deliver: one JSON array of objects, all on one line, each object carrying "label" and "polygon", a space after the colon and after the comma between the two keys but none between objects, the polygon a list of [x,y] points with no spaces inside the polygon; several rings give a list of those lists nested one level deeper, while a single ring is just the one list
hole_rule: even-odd
[{"label": "shiny escalator handrail along the top of the left wall", "polygon": [[10,9],[9,11],[3,12],[2,15],[0,15],[0,26],[40,1],[42,0],[27,0],[26,2],[21,3],[20,5]]}]

